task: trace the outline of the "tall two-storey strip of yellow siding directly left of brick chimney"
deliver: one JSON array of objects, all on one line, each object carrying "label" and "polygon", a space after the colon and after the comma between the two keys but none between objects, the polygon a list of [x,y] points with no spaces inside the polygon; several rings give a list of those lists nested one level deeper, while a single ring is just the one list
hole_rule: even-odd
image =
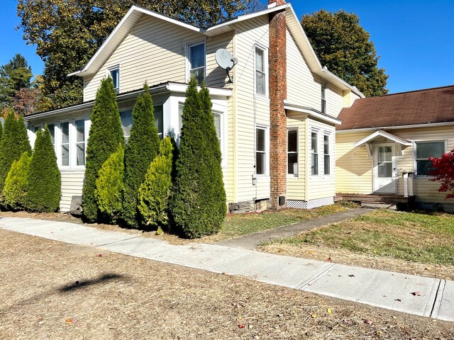
[{"label": "tall two-storey strip of yellow siding directly left of brick chimney", "polygon": [[[235,76],[235,149],[236,149],[236,202],[270,198],[270,165],[267,175],[258,175],[254,186],[255,173],[255,127],[270,126],[270,102],[268,98],[255,96],[255,45],[268,47],[268,19],[266,16],[253,18],[235,25],[235,57],[238,64]],[[269,130],[268,130],[269,133]],[[270,153],[267,152],[269,163]]]}]

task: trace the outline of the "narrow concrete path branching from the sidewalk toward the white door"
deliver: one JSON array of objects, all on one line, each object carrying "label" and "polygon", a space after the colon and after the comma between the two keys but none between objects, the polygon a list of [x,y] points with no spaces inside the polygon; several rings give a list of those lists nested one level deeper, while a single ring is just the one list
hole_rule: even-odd
[{"label": "narrow concrete path branching from the sidewalk toward the white door", "polygon": [[343,220],[350,220],[350,218],[365,215],[371,212],[372,209],[355,208],[343,212],[336,212],[331,215],[326,215],[313,220],[307,220],[287,225],[276,229],[266,230],[265,232],[255,232],[236,239],[228,239],[220,242],[223,246],[235,246],[244,249],[255,249],[257,246],[264,242],[270,242],[273,239],[282,239],[283,237],[297,236],[301,232],[321,227],[322,225],[329,225],[331,223],[341,222]]}]

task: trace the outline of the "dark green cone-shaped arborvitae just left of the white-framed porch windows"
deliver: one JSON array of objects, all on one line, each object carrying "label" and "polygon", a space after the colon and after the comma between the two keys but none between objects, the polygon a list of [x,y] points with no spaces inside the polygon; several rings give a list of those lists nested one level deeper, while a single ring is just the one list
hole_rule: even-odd
[{"label": "dark green cone-shaped arborvitae just left of the white-framed porch windows", "polygon": [[35,212],[58,211],[61,196],[61,174],[52,137],[46,125],[44,130],[38,130],[33,147],[33,157],[28,171],[26,208]]}]

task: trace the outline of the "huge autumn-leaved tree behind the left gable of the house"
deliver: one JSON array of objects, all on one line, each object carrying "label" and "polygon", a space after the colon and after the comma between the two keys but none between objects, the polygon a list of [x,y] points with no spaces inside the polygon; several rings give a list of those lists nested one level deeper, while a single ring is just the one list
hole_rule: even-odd
[{"label": "huge autumn-leaved tree behind the left gable of the house", "polygon": [[260,0],[18,0],[23,38],[45,63],[45,91],[55,107],[82,101],[81,69],[131,4],[205,27],[261,7]]}]

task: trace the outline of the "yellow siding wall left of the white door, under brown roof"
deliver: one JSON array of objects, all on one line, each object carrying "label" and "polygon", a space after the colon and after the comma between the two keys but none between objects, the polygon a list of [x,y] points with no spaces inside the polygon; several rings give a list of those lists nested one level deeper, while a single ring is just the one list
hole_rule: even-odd
[{"label": "yellow siding wall left of the white door, under brown roof", "polygon": [[353,147],[371,133],[336,133],[337,193],[372,193],[372,158],[367,158],[365,147]]}]

